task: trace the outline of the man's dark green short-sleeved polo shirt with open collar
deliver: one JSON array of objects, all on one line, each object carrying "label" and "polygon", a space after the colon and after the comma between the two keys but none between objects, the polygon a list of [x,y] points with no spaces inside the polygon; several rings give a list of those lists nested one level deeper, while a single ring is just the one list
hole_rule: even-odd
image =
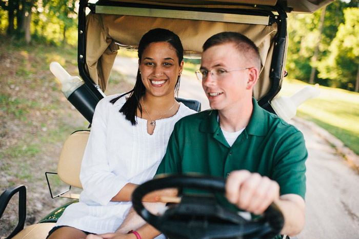
[{"label": "man's dark green short-sleeved polo shirt with open collar", "polygon": [[249,124],[230,147],[217,122],[216,110],[179,120],[156,174],[201,173],[226,178],[233,170],[247,169],[268,176],[280,193],[304,198],[307,150],[303,134],[278,116],[258,106],[253,98]]}]

